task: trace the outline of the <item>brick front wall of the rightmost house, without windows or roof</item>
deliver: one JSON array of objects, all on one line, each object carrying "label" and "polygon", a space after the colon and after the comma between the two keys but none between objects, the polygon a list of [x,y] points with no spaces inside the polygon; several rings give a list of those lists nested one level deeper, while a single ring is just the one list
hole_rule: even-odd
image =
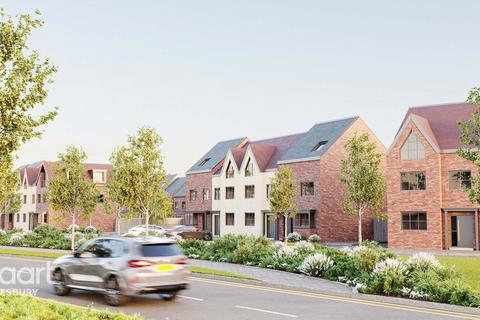
[{"label": "brick front wall of the rightmost house, without windows or roof", "polygon": [[[423,144],[425,158],[401,160],[400,149],[412,132]],[[406,124],[404,130],[397,137],[387,154],[389,247],[445,249],[444,210],[471,208],[471,213],[463,212],[461,214],[473,214],[475,206],[468,200],[466,193],[462,190],[450,190],[449,171],[471,171],[473,176],[476,174],[476,168],[471,162],[460,158],[452,151],[449,152],[437,152],[412,121]],[[409,171],[425,172],[425,190],[401,190],[400,173]],[[402,213],[412,211],[427,213],[427,230],[404,230],[402,228]],[[449,216],[451,215],[452,213],[449,214]],[[451,225],[449,225],[449,230],[451,230]],[[451,244],[451,236],[449,238]]]}]

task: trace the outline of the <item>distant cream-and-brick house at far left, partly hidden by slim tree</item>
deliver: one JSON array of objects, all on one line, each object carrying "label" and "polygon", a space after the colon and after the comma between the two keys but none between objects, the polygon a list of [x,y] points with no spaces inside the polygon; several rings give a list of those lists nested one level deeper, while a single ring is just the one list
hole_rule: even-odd
[{"label": "distant cream-and-brick house at far left, partly hidden by slim tree", "polygon": [[[17,214],[1,214],[0,229],[21,228],[32,230],[35,227],[48,224],[65,228],[71,224],[68,217],[63,218],[60,212],[49,208],[45,193],[48,190],[48,181],[53,176],[54,162],[41,161],[22,166],[18,169],[20,179],[21,208]],[[105,184],[111,166],[108,164],[85,164],[85,174],[93,180],[101,194],[106,192]],[[103,196],[99,202],[103,201]],[[102,231],[113,231],[115,214],[107,214],[99,203],[91,219],[80,219],[79,226],[93,225]]]}]

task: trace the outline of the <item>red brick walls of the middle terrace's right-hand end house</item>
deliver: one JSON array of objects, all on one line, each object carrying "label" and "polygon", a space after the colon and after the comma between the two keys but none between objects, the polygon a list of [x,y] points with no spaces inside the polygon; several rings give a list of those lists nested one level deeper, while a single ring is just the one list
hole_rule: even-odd
[{"label": "red brick walls of the middle terrace's right-hand end house", "polygon": [[[318,234],[322,242],[353,242],[358,240],[358,220],[349,217],[340,208],[343,185],[339,180],[340,163],[346,157],[345,144],[355,134],[368,132],[370,139],[377,145],[378,151],[385,153],[385,147],[358,118],[328,149],[320,160],[286,164],[292,168],[297,184],[298,207],[300,210],[315,210],[315,229],[294,228],[304,236]],[[382,170],[384,167],[382,167]],[[301,196],[300,183],[314,182],[315,195]],[[364,239],[373,238],[373,219],[368,213],[362,219]],[[283,228],[282,228],[283,229]],[[282,233],[280,233],[282,234]]]}]

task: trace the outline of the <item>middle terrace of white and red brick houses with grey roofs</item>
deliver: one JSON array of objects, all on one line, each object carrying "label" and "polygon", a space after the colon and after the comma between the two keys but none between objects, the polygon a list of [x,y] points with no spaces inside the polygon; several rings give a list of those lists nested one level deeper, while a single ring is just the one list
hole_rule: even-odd
[{"label": "middle terrace of white and red brick houses with grey roofs", "polygon": [[[378,150],[385,152],[365,122],[352,117],[319,123],[307,132],[291,136],[236,140],[227,149],[217,149],[216,160],[202,171],[199,166],[202,159],[210,158],[207,153],[193,167],[196,171],[187,172],[187,210],[205,213],[195,212],[193,224],[214,235],[254,234],[272,239],[283,238],[287,225],[288,232],[319,234],[325,242],[355,241],[357,221],[339,206],[343,190],[339,174],[346,142],[362,132],[368,132]],[[269,219],[269,185],[279,166],[293,170],[298,192],[299,214],[287,223]],[[363,220],[363,232],[364,238],[372,238],[373,219],[368,215]]]}]

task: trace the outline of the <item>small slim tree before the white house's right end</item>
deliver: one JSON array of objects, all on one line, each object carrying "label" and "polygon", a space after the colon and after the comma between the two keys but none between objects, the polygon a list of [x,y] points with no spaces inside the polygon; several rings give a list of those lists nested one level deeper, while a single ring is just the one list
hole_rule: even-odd
[{"label": "small slim tree before the white house's right end", "polygon": [[287,221],[294,219],[298,213],[297,188],[293,181],[292,169],[280,166],[272,179],[270,193],[270,210],[275,213],[275,219],[285,218],[285,241],[287,241]]}]

